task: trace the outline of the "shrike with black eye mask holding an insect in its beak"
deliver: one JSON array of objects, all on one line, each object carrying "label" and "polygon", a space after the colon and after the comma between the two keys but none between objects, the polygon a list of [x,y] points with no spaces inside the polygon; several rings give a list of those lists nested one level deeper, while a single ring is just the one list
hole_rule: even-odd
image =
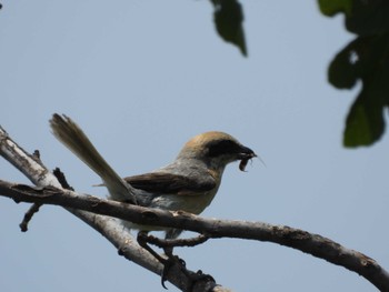
[{"label": "shrike with black eye mask holding an insect in its beak", "polygon": [[[57,139],[102,179],[110,199],[148,208],[200,214],[218,192],[226,165],[240,160],[239,168],[243,171],[247,162],[257,157],[227,133],[206,132],[190,139],[169,165],[121,179],[70,118],[53,114],[50,125]],[[181,233],[177,229],[127,221],[123,224],[140,231],[164,230],[167,239],[174,239]]]}]

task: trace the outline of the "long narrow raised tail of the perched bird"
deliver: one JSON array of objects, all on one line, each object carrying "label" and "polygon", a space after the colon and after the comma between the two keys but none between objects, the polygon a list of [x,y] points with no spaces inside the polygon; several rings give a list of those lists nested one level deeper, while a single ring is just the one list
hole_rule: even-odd
[{"label": "long narrow raised tail of the perched bird", "polygon": [[137,203],[132,188],[107,163],[76,122],[54,113],[50,125],[54,137],[101,178],[112,200]]}]

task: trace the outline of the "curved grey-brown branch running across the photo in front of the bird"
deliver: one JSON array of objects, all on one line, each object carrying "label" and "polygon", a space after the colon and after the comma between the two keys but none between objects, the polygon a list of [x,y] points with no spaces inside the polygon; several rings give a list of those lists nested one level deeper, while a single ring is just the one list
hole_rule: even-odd
[{"label": "curved grey-brown branch running across the photo in front of the bird", "polygon": [[38,202],[84,210],[134,223],[191,230],[209,238],[269,241],[300,250],[365,276],[381,291],[389,291],[388,273],[367,255],[318,234],[261,222],[205,219],[184,212],[142,208],[53,188],[33,189],[0,181],[0,193],[17,202]]}]

